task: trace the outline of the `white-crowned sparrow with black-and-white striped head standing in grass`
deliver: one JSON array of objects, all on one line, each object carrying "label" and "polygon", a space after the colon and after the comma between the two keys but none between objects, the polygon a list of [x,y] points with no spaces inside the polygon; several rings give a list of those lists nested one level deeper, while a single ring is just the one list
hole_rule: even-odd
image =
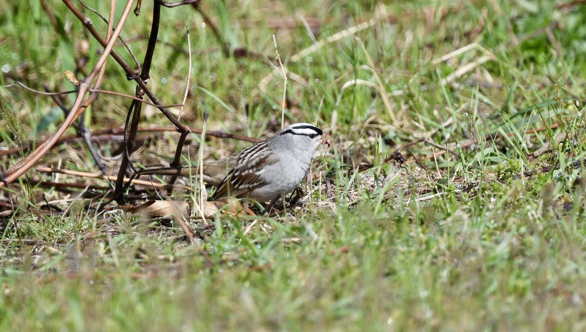
[{"label": "white-crowned sparrow with black-and-white striped head standing in grass", "polygon": [[[309,172],[323,138],[321,129],[312,124],[292,124],[266,141],[224,159],[206,162],[203,181],[217,188],[209,199],[251,198],[264,203],[290,193]],[[323,141],[329,145],[327,140]],[[172,167],[139,173],[190,175],[187,168]]]}]

